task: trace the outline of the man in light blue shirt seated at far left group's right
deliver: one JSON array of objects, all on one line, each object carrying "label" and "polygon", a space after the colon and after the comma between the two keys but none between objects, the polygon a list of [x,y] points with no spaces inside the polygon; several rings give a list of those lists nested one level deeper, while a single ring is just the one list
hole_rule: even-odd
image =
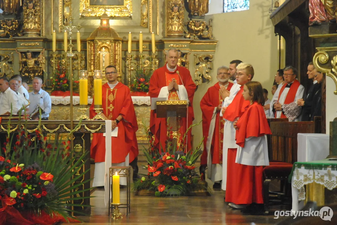
[{"label": "man in light blue shirt seated at far left group's right", "polygon": [[[39,77],[35,77],[33,79],[33,91],[29,93],[29,101],[30,101],[30,114],[32,114],[36,108],[39,106],[41,108],[41,120],[48,120],[49,113],[52,110],[52,100],[49,94],[41,89],[42,87],[42,79]],[[37,118],[33,118],[38,120]]]}]

